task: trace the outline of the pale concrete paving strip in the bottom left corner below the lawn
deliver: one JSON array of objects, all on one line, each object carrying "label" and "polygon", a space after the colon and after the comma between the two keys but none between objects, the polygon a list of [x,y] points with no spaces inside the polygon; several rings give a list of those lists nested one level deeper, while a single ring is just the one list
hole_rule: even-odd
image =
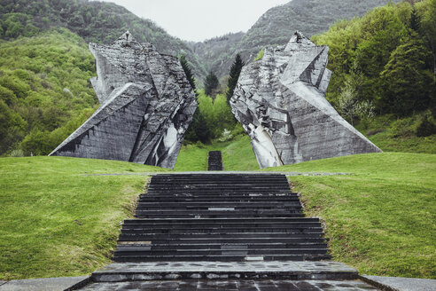
[{"label": "pale concrete paving strip in the bottom left corner below the lawn", "polygon": [[0,291],[64,291],[72,287],[82,287],[89,277],[59,277],[40,279],[14,279],[4,285],[0,281]]}]

